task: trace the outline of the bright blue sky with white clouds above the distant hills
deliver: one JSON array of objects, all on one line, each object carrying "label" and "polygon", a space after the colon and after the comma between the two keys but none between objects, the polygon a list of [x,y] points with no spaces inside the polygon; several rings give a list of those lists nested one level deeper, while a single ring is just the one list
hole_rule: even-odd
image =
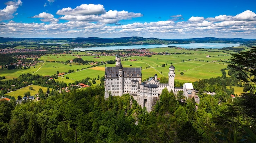
[{"label": "bright blue sky with white clouds above the distant hills", "polygon": [[0,37],[256,39],[256,0],[1,0]]}]

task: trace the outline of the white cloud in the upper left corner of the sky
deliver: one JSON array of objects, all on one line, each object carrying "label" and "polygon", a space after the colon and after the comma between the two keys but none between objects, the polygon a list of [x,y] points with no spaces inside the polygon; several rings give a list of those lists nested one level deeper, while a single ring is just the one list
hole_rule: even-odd
[{"label": "white cloud in the upper left corner of the sky", "polygon": [[[0,21],[10,20],[13,18],[13,13],[15,13],[19,6],[22,5],[21,0],[9,1],[5,3],[7,6],[4,9],[0,9]],[[17,13],[15,13],[17,15]]]}]

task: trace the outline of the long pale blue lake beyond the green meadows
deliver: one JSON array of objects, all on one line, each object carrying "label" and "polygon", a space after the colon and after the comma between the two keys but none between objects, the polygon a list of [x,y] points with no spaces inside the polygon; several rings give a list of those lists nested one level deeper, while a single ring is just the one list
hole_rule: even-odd
[{"label": "long pale blue lake beyond the green meadows", "polygon": [[90,47],[90,48],[74,48],[71,50],[121,50],[121,49],[149,49],[149,48],[161,48],[168,46],[176,46],[186,49],[221,49],[225,47],[238,47],[240,43],[189,43],[189,44],[169,44],[169,45],[127,45],[127,46],[107,46],[107,47]]}]

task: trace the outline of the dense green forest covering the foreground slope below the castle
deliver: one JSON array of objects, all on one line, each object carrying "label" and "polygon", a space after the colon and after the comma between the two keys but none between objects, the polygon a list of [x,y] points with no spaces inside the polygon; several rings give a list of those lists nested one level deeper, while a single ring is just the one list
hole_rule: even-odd
[{"label": "dense green forest covering the foreground slope below the castle", "polygon": [[[234,54],[222,77],[194,82],[200,104],[167,89],[152,112],[130,95],[104,99],[104,86],[52,91],[40,101],[0,101],[1,143],[255,143],[256,48]],[[249,61],[249,62],[248,62]],[[20,78],[44,80],[41,76]],[[17,79],[18,80],[18,79]],[[54,83],[54,82],[53,82]],[[229,86],[246,85],[231,98]],[[227,87],[228,86],[228,87]],[[204,90],[215,91],[207,95]]]}]

